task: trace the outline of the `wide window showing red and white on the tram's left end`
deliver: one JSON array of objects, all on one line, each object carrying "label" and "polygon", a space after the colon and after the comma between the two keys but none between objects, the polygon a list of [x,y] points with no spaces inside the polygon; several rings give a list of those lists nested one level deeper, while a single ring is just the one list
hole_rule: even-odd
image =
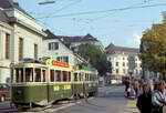
[{"label": "wide window showing red and white on the tram's left end", "polygon": [[25,69],[25,82],[33,82],[33,69],[32,68]]}]

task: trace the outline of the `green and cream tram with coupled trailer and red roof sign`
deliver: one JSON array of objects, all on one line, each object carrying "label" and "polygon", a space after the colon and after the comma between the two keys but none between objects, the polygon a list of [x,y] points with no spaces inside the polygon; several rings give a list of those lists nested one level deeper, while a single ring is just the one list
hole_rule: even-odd
[{"label": "green and cream tram with coupled trailer and red roof sign", "polygon": [[11,103],[21,107],[45,106],[68,97],[97,93],[97,71],[68,63],[20,62],[11,65]]}]

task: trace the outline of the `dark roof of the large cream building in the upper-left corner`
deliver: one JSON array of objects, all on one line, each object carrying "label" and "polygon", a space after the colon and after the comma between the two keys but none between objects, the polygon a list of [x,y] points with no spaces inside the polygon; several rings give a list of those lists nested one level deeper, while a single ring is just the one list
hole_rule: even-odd
[{"label": "dark roof of the large cream building in the upper-left corner", "polygon": [[[31,17],[20,6],[18,2],[14,2],[13,0],[0,0],[0,8],[2,9],[10,9],[10,8],[15,8],[19,11],[23,12],[24,14]],[[32,17],[31,17],[32,18]],[[33,18],[34,19],[34,18]]]}]

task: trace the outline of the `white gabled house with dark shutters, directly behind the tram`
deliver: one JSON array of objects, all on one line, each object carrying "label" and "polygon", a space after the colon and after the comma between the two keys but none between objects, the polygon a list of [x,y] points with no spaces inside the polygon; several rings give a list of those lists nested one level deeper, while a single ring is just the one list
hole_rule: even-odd
[{"label": "white gabled house with dark shutters, directly behind the tram", "polygon": [[42,56],[51,58],[61,62],[70,63],[71,65],[77,65],[82,62],[89,63],[79,54],[74,53],[70,47],[65,45],[56,35],[50,30],[44,31],[46,37],[43,38]]}]

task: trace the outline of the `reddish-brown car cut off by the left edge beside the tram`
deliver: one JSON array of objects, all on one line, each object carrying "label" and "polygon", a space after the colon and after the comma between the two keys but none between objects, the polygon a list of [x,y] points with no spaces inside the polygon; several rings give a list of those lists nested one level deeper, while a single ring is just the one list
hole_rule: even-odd
[{"label": "reddish-brown car cut off by the left edge beside the tram", "polygon": [[4,102],[6,99],[10,97],[9,85],[6,83],[0,83],[0,102]]}]

